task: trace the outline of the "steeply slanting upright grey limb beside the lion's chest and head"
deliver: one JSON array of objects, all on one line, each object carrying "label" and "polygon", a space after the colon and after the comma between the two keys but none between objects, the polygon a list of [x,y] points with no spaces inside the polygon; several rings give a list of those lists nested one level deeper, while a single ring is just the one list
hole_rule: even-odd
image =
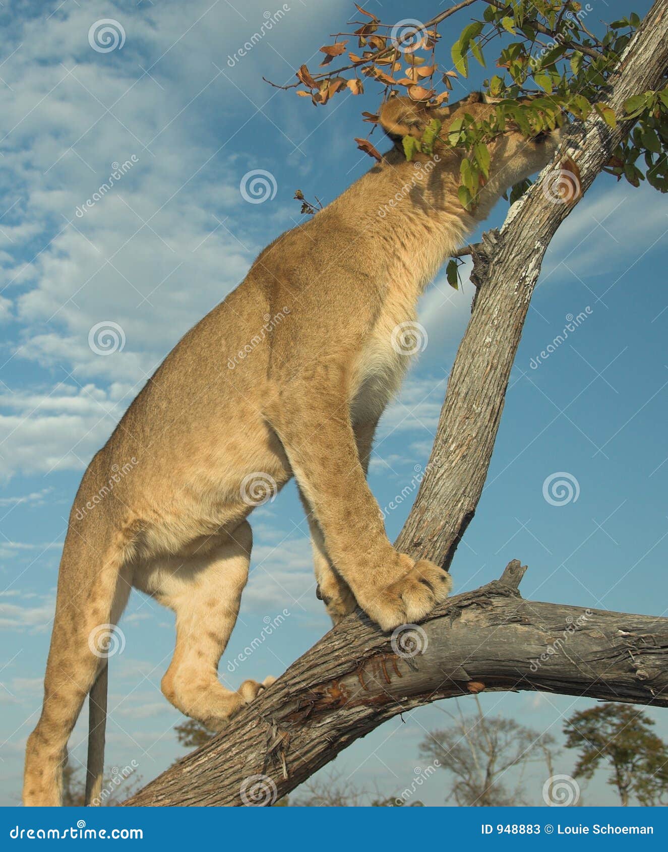
[{"label": "steeply slanting upright grey limb beside the lion's chest and head", "polygon": [[[657,89],[668,66],[668,3],[657,0],[619,60],[608,93],[617,115],[633,95]],[[448,566],[473,518],[504,408],[510,370],[533,288],[550,240],[581,195],[567,203],[550,194],[545,177],[568,156],[584,194],[631,122],[612,130],[592,112],[533,187],[510,208],[504,227],[483,235],[471,279],[475,306],[447,385],[426,473],[397,540],[399,550]]]}]

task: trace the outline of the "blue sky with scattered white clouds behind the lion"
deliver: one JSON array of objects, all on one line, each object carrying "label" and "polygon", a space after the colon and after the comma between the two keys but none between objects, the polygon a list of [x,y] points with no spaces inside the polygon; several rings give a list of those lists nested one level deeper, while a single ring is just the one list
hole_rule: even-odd
[{"label": "blue sky with scattered white clouds behind the lion", "polygon": [[[383,20],[426,20],[442,3],[370,0]],[[351,3],[291,0],[247,55],[229,57],[281,3],[9,2],[0,52],[0,803],[20,796],[22,751],[37,721],[60,549],[72,498],[147,376],[181,335],[243,279],[256,253],[300,221],[297,188],[326,203],[369,168],[355,147],[371,96],[314,108],[262,76],[291,82]],[[590,26],[649,3],[596,3]],[[96,21],[116,20],[124,43],[99,52]],[[464,20],[458,21],[458,29]],[[452,30],[444,31],[452,35]],[[120,33],[118,33],[120,37]],[[94,40],[95,43],[95,40]],[[315,60],[311,63],[315,65]],[[463,95],[471,83],[455,83]],[[383,145],[378,135],[373,141]],[[118,164],[130,163],[94,204]],[[273,198],[251,204],[244,176],[265,170]],[[503,221],[501,203],[492,224]],[[77,210],[83,210],[78,216]],[[452,564],[456,590],[529,566],[523,594],[542,601],[665,614],[668,556],[668,207],[648,187],[601,176],[550,245],[512,373],[487,486]],[[429,343],[386,412],[371,460],[381,506],[429,456],[446,379],[469,315],[471,288],[439,275],[420,321]],[[567,323],[576,331],[535,367]],[[91,338],[114,324],[122,348]],[[119,331],[120,330],[120,331]],[[554,505],[544,482],[563,472],[577,500]],[[556,502],[559,502],[558,500]],[[387,517],[399,532],[410,499]],[[315,598],[308,531],[294,486],[251,517],[250,582],[221,672],[279,675],[329,628]],[[290,615],[233,673],[267,619]],[[112,659],[107,760],[135,760],[144,780],[182,749],[178,714],[159,691],[173,617],[135,593]],[[483,694],[484,709],[560,737],[562,718],[590,706],[542,694]],[[473,707],[464,704],[464,711]],[[446,710],[452,710],[451,705]],[[665,714],[650,711],[668,736]],[[388,794],[410,784],[417,744],[447,717],[437,706],[386,722],[338,758],[337,771]],[[85,754],[86,716],[72,737]],[[574,756],[561,754],[568,773]],[[531,770],[541,803],[546,772]],[[534,790],[535,787],[535,790]],[[445,774],[420,791],[447,793]],[[585,803],[615,803],[602,777]]]}]

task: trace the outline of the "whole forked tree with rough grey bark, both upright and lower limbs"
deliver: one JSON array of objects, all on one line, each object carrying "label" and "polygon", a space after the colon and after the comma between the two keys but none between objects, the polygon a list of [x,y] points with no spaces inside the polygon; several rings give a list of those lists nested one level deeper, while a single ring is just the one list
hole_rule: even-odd
[{"label": "whole forked tree with rough grey bark, both upright and lower limbs", "polygon": [[[658,88],[667,67],[668,3],[657,0],[620,61],[608,105],[621,112],[627,98]],[[582,193],[625,130],[623,123],[610,130],[596,117],[573,129],[558,160],[567,153],[578,165]],[[412,556],[449,565],[474,515],[544,252],[575,203],[550,202],[538,179],[475,256],[475,308],[427,473],[397,541]],[[257,803],[271,803],[386,719],[481,688],[668,705],[668,619],[526,602],[516,590],[521,573],[511,563],[501,580],[432,613],[416,634],[424,653],[415,656],[396,641],[393,648],[391,637],[356,613],[291,665],[225,734],[126,804],[239,805],[253,790]],[[265,777],[250,785],[244,802],[242,786],[253,775]]]}]

